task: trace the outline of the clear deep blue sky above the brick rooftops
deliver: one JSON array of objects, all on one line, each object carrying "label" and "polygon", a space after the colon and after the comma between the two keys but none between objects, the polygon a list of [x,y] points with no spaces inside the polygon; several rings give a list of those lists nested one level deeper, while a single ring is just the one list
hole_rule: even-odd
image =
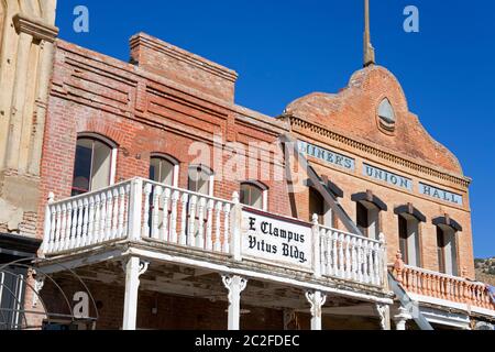
[{"label": "clear deep blue sky above the brick rooftops", "polygon": [[[76,6],[89,33],[73,30]],[[406,33],[406,6],[420,32]],[[475,256],[495,256],[495,1],[371,0],[380,65],[409,108],[460,160],[471,187]],[[237,102],[270,116],[312,91],[336,92],[362,66],[362,0],[59,0],[61,37],[123,61],[140,31],[235,69]]]}]

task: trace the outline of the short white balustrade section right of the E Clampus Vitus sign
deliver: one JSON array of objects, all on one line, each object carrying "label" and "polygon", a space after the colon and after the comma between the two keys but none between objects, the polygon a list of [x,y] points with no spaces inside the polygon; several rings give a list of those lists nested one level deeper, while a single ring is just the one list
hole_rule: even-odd
[{"label": "short white balustrade section right of the E Clampus Vitus sign", "polygon": [[320,226],[321,275],[382,286],[385,278],[385,241]]}]

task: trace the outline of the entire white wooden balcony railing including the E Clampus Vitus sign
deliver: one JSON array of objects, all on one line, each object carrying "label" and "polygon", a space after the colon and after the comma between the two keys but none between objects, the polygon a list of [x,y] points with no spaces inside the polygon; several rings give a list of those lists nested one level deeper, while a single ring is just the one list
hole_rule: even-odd
[{"label": "entire white wooden balcony railing including the E Clampus Vitus sign", "polygon": [[[296,241],[288,241],[284,249],[278,249],[279,253],[286,252],[285,257],[279,253],[272,258],[270,253],[266,257],[260,255],[262,252],[248,243],[250,234],[255,234],[249,228],[249,219],[253,217],[273,221],[270,226],[274,228],[277,224],[279,229],[294,228],[301,237],[306,233],[306,240],[290,248]],[[383,288],[386,279],[383,239],[374,241],[317,222],[251,209],[239,202],[237,194],[232,200],[226,200],[134,178],[98,191],[48,201],[45,257],[70,255],[119,241],[152,241],[163,246],[198,250],[199,255],[211,253],[238,262],[260,262],[316,278],[376,288]]]}]

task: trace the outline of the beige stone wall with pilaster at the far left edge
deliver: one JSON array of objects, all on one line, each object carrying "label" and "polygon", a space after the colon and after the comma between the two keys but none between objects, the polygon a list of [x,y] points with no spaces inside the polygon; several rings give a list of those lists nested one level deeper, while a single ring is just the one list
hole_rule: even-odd
[{"label": "beige stone wall with pilaster at the far left edge", "polygon": [[56,0],[0,2],[0,232],[35,235]]}]

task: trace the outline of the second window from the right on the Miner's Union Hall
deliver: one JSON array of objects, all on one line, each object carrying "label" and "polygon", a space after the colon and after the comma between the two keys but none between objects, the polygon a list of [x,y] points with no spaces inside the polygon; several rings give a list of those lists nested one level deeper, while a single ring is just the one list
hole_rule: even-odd
[{"label": "second window from the right on the Miner's Union Hall", "polygon": [[413,205],[397,207],[394,211],[398,218],[399,249],[404,262],[411,266],[421,266],[420,223],[426,217]]}]

